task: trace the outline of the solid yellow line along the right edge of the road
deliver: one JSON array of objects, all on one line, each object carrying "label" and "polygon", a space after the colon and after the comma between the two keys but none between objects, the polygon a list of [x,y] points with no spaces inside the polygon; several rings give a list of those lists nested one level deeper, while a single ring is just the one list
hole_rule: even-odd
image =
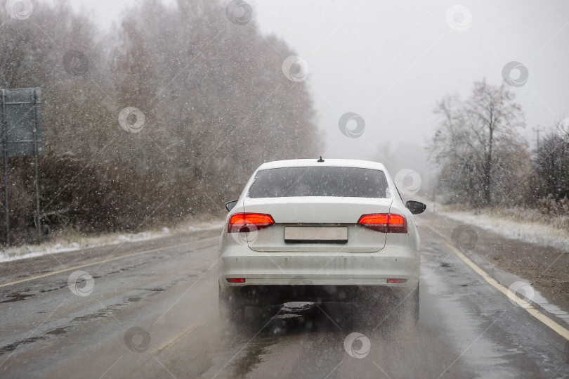
[{"label": "solid yellow line along the right edge of the road", "polygon": [[539,321],[542,321],[542,323],[544,323],[551,330],[554,330],[554,332],[556,332],[558,335],[561,335],[561,337],[565,338],[565,340],[569,340],[569,330],[568,329],[563,328],[563,326],[561,326],[558,323],[556,323],[555,321],[549,319],[549,317],[545,316],[544,314],[542,314],[542,312],[535,309],[530,302],[526,302],[525,300],[523,300],[519,297],[516,297],[515,293],[512,293],[512,291],[508,290],[508,288],[504,287],[504,285],[498,283],[495,278],[492,278],[492,276],[486,274],[486,271],[484,271],[483,269],[480,269],[480,267],[476,263],[472,262],[460,250],[458,250],[457,248],[454,248],[454,246],[450,245],[450,243],[447,243],[447,241],[443,238],[443,236],[440,235],[440,233],[438,233],[438,231],[432,229],[430,226],[426,226],[426,227],[428,229],[431,229],[431,231],[434,231],[439,236],[440,240],[442,240],[442,242],[445,244],[445,246],[447,246],[447,248],[452,250],[452,252],[454,252],[454,254],[456,254],[460,259],[462,259],[462,261],[464,263],[468,264],[471,267],[471,269],[476,271],[476,273],[478,275],[482,276],[485,279],[485,281],[490,283],[490,285],[492,285],[492,287],[496,288],[501,293],[506,295],[506,297],[513,300],[517,304],[519,304],[520,307],[522,307],[523,309],[528,311],[529,314],[534,316]]}]

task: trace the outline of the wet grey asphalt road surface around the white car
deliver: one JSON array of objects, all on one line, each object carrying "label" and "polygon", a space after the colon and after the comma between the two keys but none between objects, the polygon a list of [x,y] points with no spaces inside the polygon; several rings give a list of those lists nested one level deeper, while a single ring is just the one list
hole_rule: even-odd
[{"label": "wet grey asphalt road surface around the white car", "polygon": [[[11,284],[0,287],[0,376],[568,378],[567,340],[488,284],[426,220],[417,325],[379,305],[370,319],[351,303],[289,303],[228,328],[218,319],[218,231],[2,264],[0,285]],[[67,283],[77,270],[93,277],[74,287],[79,295]],[[353,332],[369,339],[364,358],[344,348]]]}]

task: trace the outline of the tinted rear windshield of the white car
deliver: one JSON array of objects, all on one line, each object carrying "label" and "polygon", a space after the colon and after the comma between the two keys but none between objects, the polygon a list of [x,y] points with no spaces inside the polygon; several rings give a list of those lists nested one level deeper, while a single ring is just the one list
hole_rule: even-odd
[{"label": "tinted rear windshield of the white car", "polygon": [[383,171],[358,167],[280,167],[262,169],[249,188],[249,198],[346,196],[386,198]]}]

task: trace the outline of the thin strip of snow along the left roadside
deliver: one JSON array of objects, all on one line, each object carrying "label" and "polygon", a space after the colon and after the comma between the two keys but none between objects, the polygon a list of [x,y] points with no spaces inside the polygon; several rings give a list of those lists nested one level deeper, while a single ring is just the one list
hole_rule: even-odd
[{"label": "thin strip of snow along the left roadside", "polygon": [[140,233],[133,234],[112,233],[98,237],[82,237],[74,242],[55,240],[53,242],[42,243],[41,245],[22,245],[15,248],[0,250],[0,263],[11,262],[18,259],[41,257],[41,255],[47,254],[58,254],[60,252],[70,252],[89,248],[99,248],[107,245],[119,245],[121,243],[152,240],[184,231],[221,230],[223,224],[223,221],[207,221],[178,226],[174,231],[171,231],[169,228],[162,228],[160,231],[141,231]]}]

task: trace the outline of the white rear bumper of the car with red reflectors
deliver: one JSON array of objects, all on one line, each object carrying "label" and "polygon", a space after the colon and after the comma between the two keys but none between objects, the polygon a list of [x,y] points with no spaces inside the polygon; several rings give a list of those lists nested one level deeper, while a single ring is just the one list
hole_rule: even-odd
[{"label": "white rear bumper of the car with red reflectors", "polygon": [[[382,285],[414,289],[419,252],[394,246],[379,252],[256,252],[234,245],[221,255],[222,288],[247,285]],[[228,283],[242,278],[244,283]],[[406,283],[387,283],[406,279]]]}]

